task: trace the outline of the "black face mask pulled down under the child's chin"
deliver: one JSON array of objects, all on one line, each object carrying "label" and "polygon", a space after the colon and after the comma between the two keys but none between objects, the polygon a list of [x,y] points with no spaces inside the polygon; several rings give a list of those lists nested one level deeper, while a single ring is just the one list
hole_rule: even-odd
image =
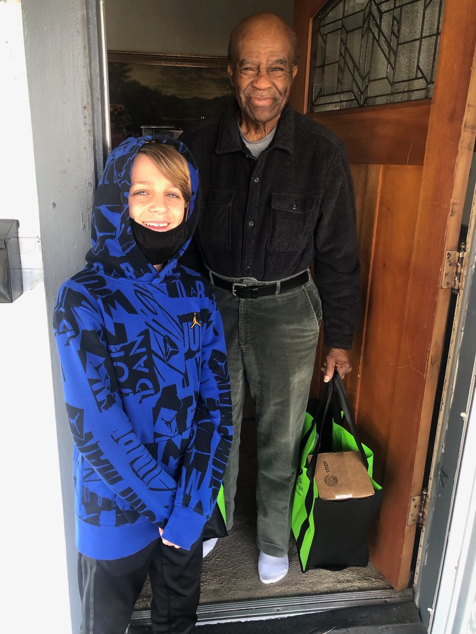
[{"label": "black face mask pulled down under the child's chin", "polygon": [[184,214],[182,222],[170,231],[153,231],[130,218],[133,236],[150,264],[165,264],[188,240]]}]

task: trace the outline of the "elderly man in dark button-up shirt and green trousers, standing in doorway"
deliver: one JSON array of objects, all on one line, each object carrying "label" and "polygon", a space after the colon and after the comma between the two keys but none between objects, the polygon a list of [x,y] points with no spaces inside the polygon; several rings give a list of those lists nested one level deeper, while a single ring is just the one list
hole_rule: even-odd
[{"label": "elderly man in dark button-up shirt and green trousers, standing in doorway", "polygon": [[[234,439],[225,474],[228,529],[245,382],[258,432],[258,572],[288,572],[298,447],[321,315],[324,380],[350,372],[360,318],[354,191],[343,144],[294,112],[295,37],[281,18],[251,15],[230,39],[236,100],[182,135],[202,188],[197,251],[220,307],[232,385]],[[309,272],[315,262],[315,283]],[[322,302],[322,310],[321,310]],[[204,553],[215,542],[204,545]]]}]

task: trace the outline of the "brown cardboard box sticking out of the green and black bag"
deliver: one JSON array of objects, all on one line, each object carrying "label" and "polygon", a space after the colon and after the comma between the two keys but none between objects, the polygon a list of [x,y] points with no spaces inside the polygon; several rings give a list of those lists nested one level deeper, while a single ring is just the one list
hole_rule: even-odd
[{"label": "brown cardboard box sticking out of the green and black bag", "polygon": [[[311,457],[308,456],[308,462]],[[322,500],[361,500],[374,495],[372,482],[359,451],[320,453],[314,478]]]}]

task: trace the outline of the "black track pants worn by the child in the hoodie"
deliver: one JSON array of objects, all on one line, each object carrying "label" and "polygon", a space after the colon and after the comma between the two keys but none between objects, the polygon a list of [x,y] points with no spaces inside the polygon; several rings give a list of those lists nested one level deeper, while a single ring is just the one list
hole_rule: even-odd
[{"label": "black track pants worn by the child in the hoodie", "polygon": [[152,586],[152,632],[188,634],[197,621],[202,540],[192,550],[155,540],[122,559],[91,559],[79,553],[83,605],[81,634],[124,634],[147,574]]}]

